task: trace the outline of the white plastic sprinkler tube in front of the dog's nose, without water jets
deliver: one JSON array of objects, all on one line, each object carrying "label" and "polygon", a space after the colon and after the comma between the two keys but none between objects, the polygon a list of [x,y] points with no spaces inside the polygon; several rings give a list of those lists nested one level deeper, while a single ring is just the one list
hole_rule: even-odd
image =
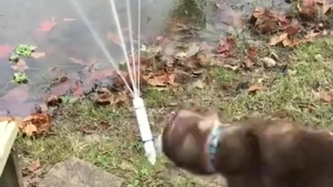
[{"label": "white plastic sprinkler tube in front of the dog's nose, without water jets", "polygon": [[139,125],[139,131],[141,139],[144,142],[144,152],[148,161],[155,165],[156,162],[156,150],[153,141],[153,135],[151,134],[151,127],[149,126],[148,116],[146,113],[146,107],[144,107],[144,100],[140,97],[133,99],[133,107],[135,109],[135,115],[137,116],[137,123]]}]

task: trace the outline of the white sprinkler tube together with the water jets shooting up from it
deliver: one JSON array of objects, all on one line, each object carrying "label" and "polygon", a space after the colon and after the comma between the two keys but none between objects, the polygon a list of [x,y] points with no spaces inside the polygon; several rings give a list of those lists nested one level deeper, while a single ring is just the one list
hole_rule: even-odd
[{"label": "white sprinkler tube together with the water jets shooting up from it", "polygon": [[[112,66],[114,67],[114,69],[116,70],[116,72],[120,75],[120,78],[123,80],[123,82],[125,82],[125,85],[127,87],[127,89],[130,91],[130,94],[133,96],[133,108],[135,110],[135,116],[137,118],[137,123],[139,126],[139,132],[140,132],[140,136],[142,139],[142,142],[144,143],[144,152],[145,152],[145,156],[147,157],[148,161],[155,165],[156,162],[156,150],[155,150],[155,145],[154,145],[154,139],[153,139],[153,134],[151,133],[151,127],[149,125],[148,122],[148,116],[146,113],[146,107],[144,106],[144,100],[139,96],[140,94],[140,25],[141,25],[141,0],[138,0],[138,48],[137,48],[137,58],[138,58],[138,66],[137,68],[135,68],[135,60],[134,60],[134,48],[133,48],[133,38],[132,38],[132,21],[131,21],[131,16],[130,16],[130,8],[129,8],[129,0],[126,0],[126,6],[127,10],[128,10],[128,24],[130,24],[129,28],[130,28],[130,48],[131,48],[131,52],[132,52],[132,61],[133,61],[133,71],[134,73],[132,73],[132,69],[130,68],[130,60],[128,59],[128,53],[126,50],[126,45],[123,39],[123,34],[121,32],[121,26],[119,23],[119,17],[118,17],[118,12],[116,10],[116,6],[114,3],[114,0],[110,0],[110,5],[111,5],[111,10],[112,10],[112,15],[114,17],[114,21],[116,23],[117,26],[117,30],[119,33],[119,37],[121,39],[121,48],[123,50],[123,55],[125,56],[126,59],[126,65],[127,65],[127,69],[128,69],[128,73],[130,75],[130,82],[132,83],[133,89],[130,88],[130,85],[128,84],[128,82],[126,82],[126,79],[123,77],[123,75],[121,75],[117,65],[114,63],[114,60],[112,58],[112,56],[110,55],[110,53],[107,51],[105,44],[103,44],[101,37],[99,37],[99,35],[96,33],[96,31],[93,29],[92,24],[90,23],[90,20],[87,19],[86,15],[83,13],[83,11],[81,10],[80,6],[78,5],[78,3],[76,2],[76,0],[71,0],[71,3],[73,4],[73,6],[76,8],[76,10],[78,11],[78,14],[80,15],[80,17],[83,19],[83,21],[85,22],[85,24],[87,25],[87,27],[89,28],[90,32],[92,33],[92,36],[94,37],[95,41],[97,42],[97,44],[99,44],[101,50],[103,51],[104,55],[107,57],[107,59],[109,60],[109,62],[112,64]],[[137,70],[137,72],[136,72]]]}]

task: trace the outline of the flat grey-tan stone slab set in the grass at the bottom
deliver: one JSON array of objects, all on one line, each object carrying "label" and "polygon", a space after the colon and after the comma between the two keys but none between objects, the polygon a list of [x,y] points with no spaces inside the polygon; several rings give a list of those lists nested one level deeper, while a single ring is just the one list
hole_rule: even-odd
[{"label": "flat grey-tan stone slab set in the grass at the bottom", "polygon": [[38,187],[120,187],[122,182],[91,163],[72,158],[53,166]]}]

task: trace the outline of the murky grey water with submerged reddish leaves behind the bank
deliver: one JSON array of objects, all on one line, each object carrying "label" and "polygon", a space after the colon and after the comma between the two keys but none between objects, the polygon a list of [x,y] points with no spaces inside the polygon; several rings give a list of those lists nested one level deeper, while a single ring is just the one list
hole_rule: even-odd
[{"label": "murky grey water with submerged reddish leaves behind the bank", "polygon": [[[108,0],[77,0],[83,11],[92,21],[112,57],[117,62],[123,60],[123,54],[117,39],[111,7]],[[161,35],[169,21],[171,10],[182,0],[142,0],[142,43],[150,44]],[[226,26],[234,23],[235,15],[250,12],[253,4],[271,6],[272,1],[228,0],[218,3],[219,10],[205,10],[207,28],[216,28],[215,32],[223,33]],[[137,35],[137,1],[131,1],[134,35]],[[263,3],[264,2],[264,3]],[[127,17],[126,1],[116,1],[119,18],[126,34]],[[274,1],[280,9],[287,6],[284,1]],[[44,94],[50,91],[50,82],[65,75],[80,80],[83,71],[89,64],[96,69],[110,69],[112,64],[105,60],[101,49],[94,41],[89,29],[78,16],[69,0],[11,0],[0,1],[0,48],[10,49],[18,44],[37,46],[38,52],[45,53],[39,59],[24,59],[28,65],[26,75],[28,85],[10,83],[12,73],[8,54],[0,51],[0,115],[11,114],[25,116],[30,114],[37,101],[44,100]],[[47,29],[54,26],[52,29]],[[220,29],[220,30],[219,30]],[[217,30],[217,31],[216,31]],[[203,32],[203,35],[207,32]],[[210,34],[208,34],[210,35]],[[136,37],[135,37],[136,39]],[[9,50],[7,50],[9,51]],[[2,54],[2,55],[1,55]],[[75,81],[71,82],[76,84]],[[60,86],[61,87],[61,86]],[[66,87],[66,85],[64,86]],[[60,91],[61,92],[61,91]],[[65,94],[65,93],[58,93]]]}]

